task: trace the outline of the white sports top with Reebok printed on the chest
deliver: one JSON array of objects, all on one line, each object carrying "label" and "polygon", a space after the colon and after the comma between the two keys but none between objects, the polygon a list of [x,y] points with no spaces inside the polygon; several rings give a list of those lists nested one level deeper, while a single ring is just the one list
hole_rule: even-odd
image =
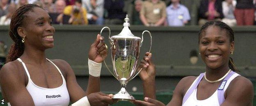
[{"label": "white sports top with Reebok printed on the chest", "polygon": [[62,77],[63,83],[61,86],[57,88],[43,88],[34,84],[34,82],[30,78],[30,74],[27,71],[27,67],[25,66],[25,63],[22,62],[20,58],[18,58],[17,60],[22,63],[27,73],[28,83],[26,88],[34,101],[35,106],[68,106],[69,105],[69,92],[66,87],[66,80],[63,77],[59,68],[53,62],[47,59],[49,62],[53,63],[53,65],[59,71]]}]

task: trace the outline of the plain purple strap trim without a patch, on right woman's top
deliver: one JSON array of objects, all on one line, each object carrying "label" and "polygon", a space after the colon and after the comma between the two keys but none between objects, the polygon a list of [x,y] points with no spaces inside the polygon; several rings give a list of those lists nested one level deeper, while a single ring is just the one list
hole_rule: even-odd
[{"label": "plain purple strap trim without a patch, on right woman's top", "polygon": [[201,73],[197,79],[197,81],[194,83],[194,85],[191,85],[192,87],[190,89],[187,90],[187,93],[184,95],[183,100],[182,100],[182,105],[187,101],[188,97],[190,97],[190,95],[193,93],[194,89],[197,88],[199,82],[201,81],[201,79],[203,78],[204,73]]}]

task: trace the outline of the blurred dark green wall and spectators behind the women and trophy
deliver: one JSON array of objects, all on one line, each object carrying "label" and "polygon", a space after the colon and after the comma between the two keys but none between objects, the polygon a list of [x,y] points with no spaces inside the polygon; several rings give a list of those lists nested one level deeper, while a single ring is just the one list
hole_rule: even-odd
[{"label": "blurred dark green wall and spectators behind the women and trophy", "polygon": [[[144,30],[152,34],[153,61],[156,65],[157,99],[167,104],[180,79],[197,76],[205,71],[198,50],[198,32],[202,24],[221,20],[235,31],[235,51],[231,56],[240,74],[249,78],[256,93],[256,0],[0,0],[0,65],[13,43],[9,37],[12,13],[24,4],[38,4],[53,19],[54,48],[46,50],[49,59],[62,59],[71,65],[78,84],[85,90],[88,82],[88,51],[96,35],[105,26],[111,35],[122,30],[126,14],[130,30],[141,37]],[[108,42],[108,31],[102,36]],[[149,51],[150,38],[144,35],[140,59]],[[110,49],[109,49],[110,52]],[[106,58],[112,69],[110,53]],[[150,86],[150,85],[149,85]],[[107,71],[101,70],[101,91],[117,93],[119,82]],[[136,99],[143,99],[139,76],[131,80],[127,90]],[[2,98],[2,97],[1,97]],[[118,102],[113,106],[133,106]],[[254,97],[256,106],[256,97]]]}]

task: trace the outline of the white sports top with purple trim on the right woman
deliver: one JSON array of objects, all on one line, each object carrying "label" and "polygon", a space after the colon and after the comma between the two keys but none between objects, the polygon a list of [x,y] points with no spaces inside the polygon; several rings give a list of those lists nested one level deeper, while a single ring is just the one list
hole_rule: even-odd
[{"label": "white sports top with purple trim on the right woman", "polygon": [[201,73],[197,79],[194,80],[190,88],[183,97],[182,106],[220,106],[224,100],[224,93],[228,88],[230,82],[237,76],[238,73],[231,71],[219,85],[219,88],[209,98],[204,100],[197,100],[197,86],[205,73]]}]

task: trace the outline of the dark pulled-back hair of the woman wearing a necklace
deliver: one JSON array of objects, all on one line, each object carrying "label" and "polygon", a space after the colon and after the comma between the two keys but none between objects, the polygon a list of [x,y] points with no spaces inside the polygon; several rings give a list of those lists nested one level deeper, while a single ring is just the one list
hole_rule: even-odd
[{"label": "dark pulled-back hair of the woman wearing a necklace", "polygon": [[[201,36],[202,32],[205,31],[210,26],[216,26],[216,27],[219,27],[220,29],[224,29],[226,31],[226,33],[229,35],[229,41],[230,42],[234,41],[234,31],[233,31],[233,29],[231,29],[231,27],[229,27],[229,25],[227,25],[226,23],[221,22],[221,21],[206,22],[201,27],[201,29],[199,31],[198,39],[200,39],[200,36]],[[199,40],[198,40],[198,43],[199,43]],[[235,64],[233,63],[233,59],[231,57],[229,57],[229,68],[233,71],[239,72],[239,70],[235,67]]]}]

